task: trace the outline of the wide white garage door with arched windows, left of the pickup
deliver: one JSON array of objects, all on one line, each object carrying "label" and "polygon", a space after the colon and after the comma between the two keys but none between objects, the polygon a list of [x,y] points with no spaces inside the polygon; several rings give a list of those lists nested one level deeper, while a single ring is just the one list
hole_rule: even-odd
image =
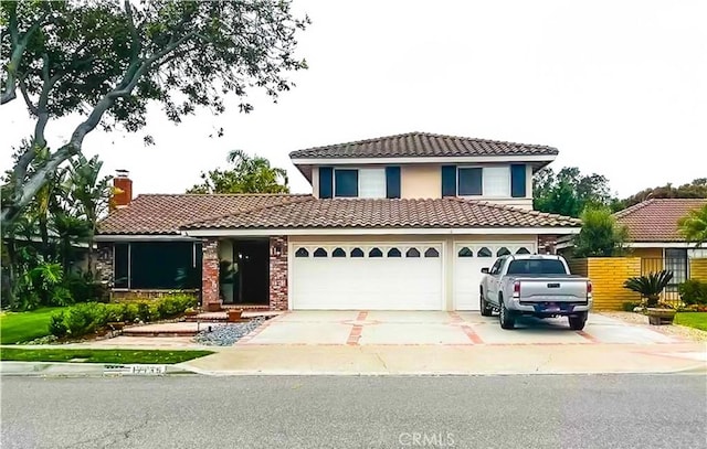
[{"label": "wide white garage door with arched windows, left of the pickup", "polygon": [[441,310],[442,245],[294,245],[296,310]]}]

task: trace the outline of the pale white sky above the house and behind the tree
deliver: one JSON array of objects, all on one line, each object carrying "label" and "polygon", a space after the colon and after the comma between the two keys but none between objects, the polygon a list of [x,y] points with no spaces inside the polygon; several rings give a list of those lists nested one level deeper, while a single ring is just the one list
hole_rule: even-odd
[{"label": "pale white sky above the house and behind the tree", "polygon": [[[277,104],[236,101],[220,117],[201,110],[175,126],[159,107],[147,132],[96,130],[84,145],[106,173],[127,169],[135,193],[181,193],[231,149],[288,170],[288,152],[408,131],[541,143],[552,167],[604,174],[620,196],[707,177],[705,1],[315,1],[300,34],[309,70]],[[0,108],[9,147],[31,133],[21,100]],[[78,122],[50,124],[54,148]],[[209,138],[223,127],[225,136]]]}]

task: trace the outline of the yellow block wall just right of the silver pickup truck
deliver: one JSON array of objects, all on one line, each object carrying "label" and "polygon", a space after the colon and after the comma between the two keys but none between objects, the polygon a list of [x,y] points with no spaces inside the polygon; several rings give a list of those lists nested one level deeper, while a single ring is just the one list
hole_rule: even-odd
[{"label": "yellow block wall just right of the silver pickup truck", "polygon": [[594,310],[621,310],[624,302],[641,300],[641,295],[623,288],[626,279],[641,276],[641,257],[590,257],[584,260],[587,276],[593,286]]}]

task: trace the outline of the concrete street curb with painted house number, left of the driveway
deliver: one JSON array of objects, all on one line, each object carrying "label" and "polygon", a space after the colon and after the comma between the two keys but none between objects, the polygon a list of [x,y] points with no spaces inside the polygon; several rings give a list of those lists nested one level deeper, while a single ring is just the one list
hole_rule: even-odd
[{"label": "concrete street curb with painted house number, left of the driveway", "polygon": [[[133,374],[119,371],[110,371],[109,367],[116,366],[136,366],[136,367],[155,367],[165,366],[161,374]],[[72,362],[0,362],[0,376],[39,376],[39,377],[66,377],[66,376],[140,376],[140,375],[175,375],[175,374],[194,374],[187,366],[176,365],[155,365],[155,364],[122,364],[122,363],[72,363]]]}]

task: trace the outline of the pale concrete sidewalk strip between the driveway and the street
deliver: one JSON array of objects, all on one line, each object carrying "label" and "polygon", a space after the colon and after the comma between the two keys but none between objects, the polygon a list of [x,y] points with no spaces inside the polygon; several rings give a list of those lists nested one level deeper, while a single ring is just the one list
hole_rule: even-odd
[{"label": "pale concrete sidewalk strip between the driveway and the street", "polygon": [[180,366],[209,375],[707,374],[707,346],[243,345]]}]

